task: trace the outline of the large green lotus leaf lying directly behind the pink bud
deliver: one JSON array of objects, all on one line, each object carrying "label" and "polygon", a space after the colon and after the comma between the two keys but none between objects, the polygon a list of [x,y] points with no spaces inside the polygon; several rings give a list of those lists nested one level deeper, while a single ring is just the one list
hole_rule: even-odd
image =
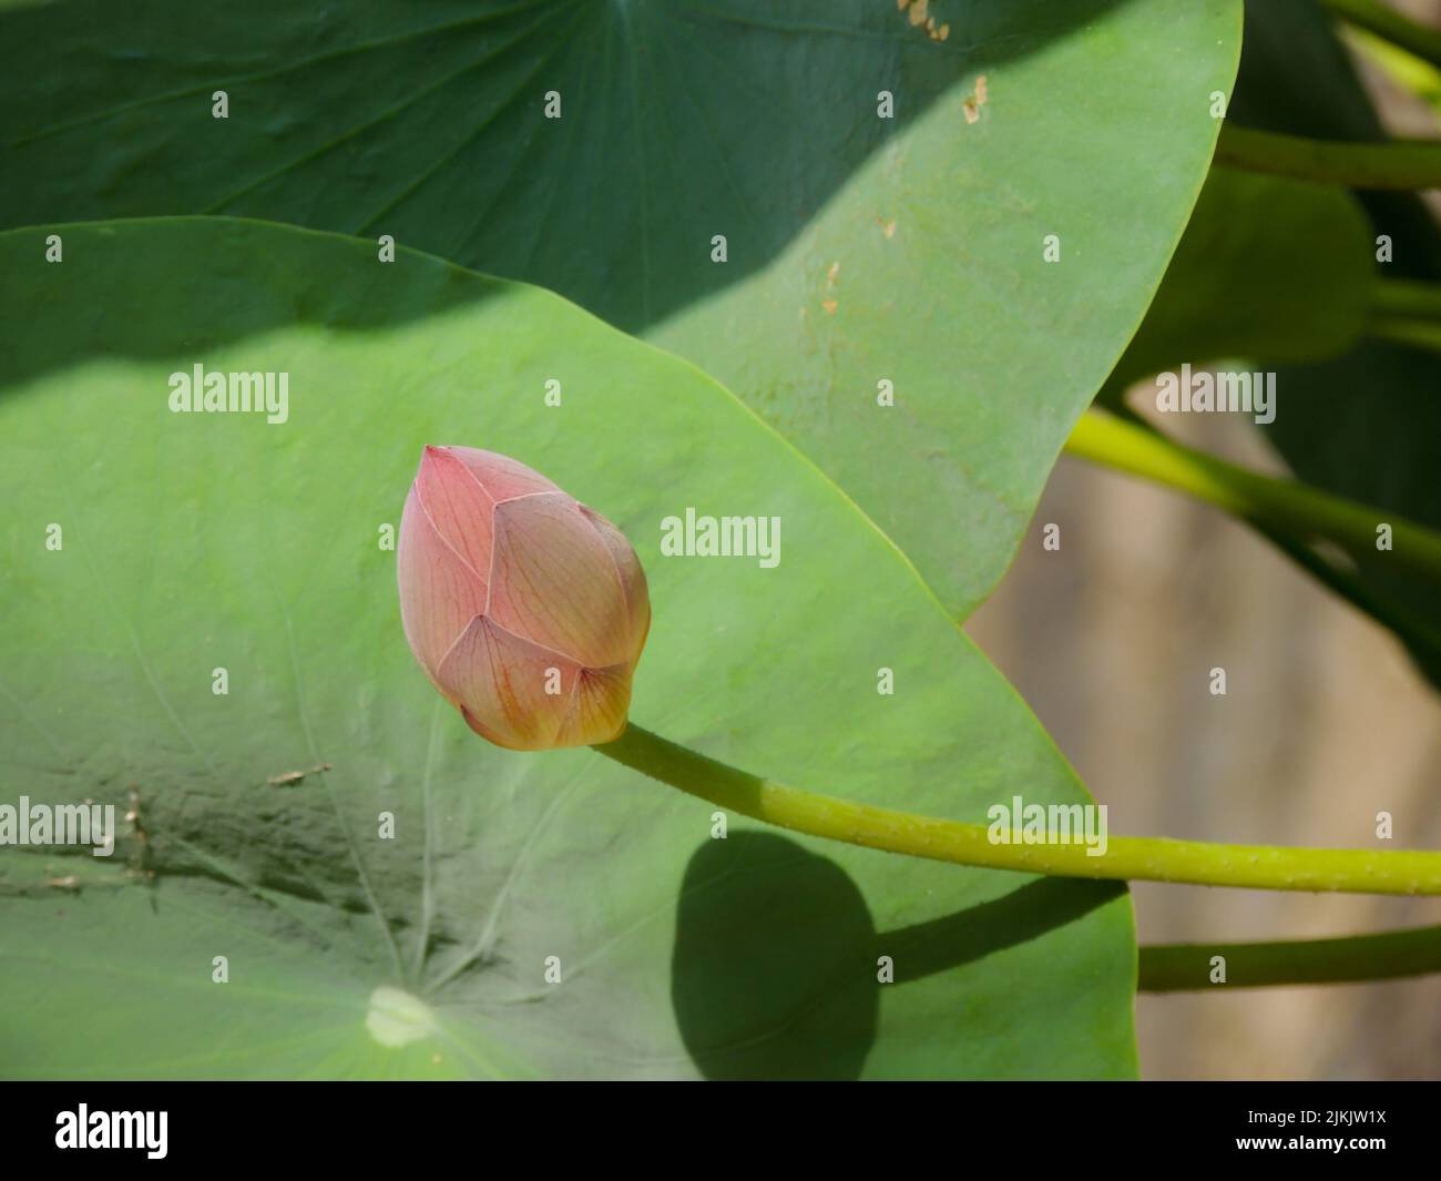
[{"label": "large green lotus leaf lying directly behind the pink bud", "polygon": [[[0,852],[4,1074],[1134,1073],[1124,890],[741,818],[716,839],[709,805],[591,750],[486,744],[415,666],[383,526],[422,444],[491,447],[634,541],[640,724],[928,813],[1085,800],[893,545],[723,388],[415,252],[61,232],[59,264],[0,235],[0,799],[138,816],[108,859]],[[288,420],[171,412],[195,365],[288,373]],[[778,516],[780,564],[663,558],[687,508]]]}]

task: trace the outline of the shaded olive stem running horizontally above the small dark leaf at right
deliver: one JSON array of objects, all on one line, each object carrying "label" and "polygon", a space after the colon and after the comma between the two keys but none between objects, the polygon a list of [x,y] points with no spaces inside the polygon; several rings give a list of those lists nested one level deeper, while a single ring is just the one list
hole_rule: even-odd
[{"label": "shaded olive stem running horizontally above the small dark leaf at right", "polygon": [[1441,140],[1342,143],[1228,123],[1215,162],[1349,189],[1441,189]]}]

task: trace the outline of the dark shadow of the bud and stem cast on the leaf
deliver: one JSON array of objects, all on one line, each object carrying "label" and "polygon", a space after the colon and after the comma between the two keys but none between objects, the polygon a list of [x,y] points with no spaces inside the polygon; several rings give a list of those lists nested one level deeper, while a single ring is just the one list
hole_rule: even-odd
[{"label": "dark shadow of the bud and stem cast on the leaf", "polygon": [[1040,878],[994,901],[878,933],[834,861],[768,832],[706,841],[676,913],[672,1002],[708,1079],[857,1079],[875,1044],[878,960],[895,983],[1038,939],[1125,890]]}]

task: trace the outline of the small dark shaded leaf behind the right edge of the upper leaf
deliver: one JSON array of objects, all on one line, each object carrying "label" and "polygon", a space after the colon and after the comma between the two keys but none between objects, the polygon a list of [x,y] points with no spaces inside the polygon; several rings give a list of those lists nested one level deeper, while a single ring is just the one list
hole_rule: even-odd
[{"label": "small dark shaded leaf behind the right edge of the upper leaf", "polygon": [[[1108,397],[1182,362],[1339,356],[1366,329],[1373,271],[1370,222],[1349,192],[1212,169]],[[1293,394],[1304,397],[1278,394],[1287,411]]]}]

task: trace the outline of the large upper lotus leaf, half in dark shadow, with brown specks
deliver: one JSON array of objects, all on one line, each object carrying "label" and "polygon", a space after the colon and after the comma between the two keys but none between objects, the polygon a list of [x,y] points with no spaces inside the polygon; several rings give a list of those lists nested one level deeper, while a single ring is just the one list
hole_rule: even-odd
[{"label": "large upper lotus leaf, half in dark shadow, with brown specks", "polygon": [[935,0],[944,42],[912,12],[22,7],[0,225],[233,213],[539,283],[729,385],[964,616],[1156,290],[1241,3]]}]

